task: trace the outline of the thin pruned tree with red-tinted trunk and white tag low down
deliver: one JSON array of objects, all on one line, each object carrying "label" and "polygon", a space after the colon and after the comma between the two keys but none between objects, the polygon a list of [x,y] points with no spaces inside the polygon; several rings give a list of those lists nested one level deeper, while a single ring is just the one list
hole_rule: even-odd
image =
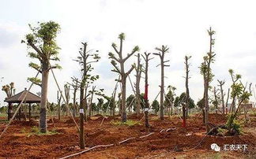
[{"label": "thin pruned tree with red-tinted trunk and white tag low down", "polygon": [[144,99],[145,99],[145,128],[149,128],[149,61],[152,60],[152,58],[149,58],[150,53],[144,53],[142,55],[144,61],[145,61],[145,94],[144,94]]}]

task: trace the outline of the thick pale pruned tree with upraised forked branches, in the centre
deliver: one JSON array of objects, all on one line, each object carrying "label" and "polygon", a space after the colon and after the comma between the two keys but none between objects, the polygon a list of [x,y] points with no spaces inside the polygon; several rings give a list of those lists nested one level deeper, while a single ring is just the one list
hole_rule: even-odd
[{"label": "thick pale pruned tree with upraised forked branches, in the centre", "polygon": [[[125,34],[121,33],[119,35],[120,40],[120,46],[119,50],[115,43],[112,43],[112,47],[115,50],[115,53],[118,55],[118,57],[115,57],[115,54],[109,53],[109,58],[112,59],[111,64],[114,66],[114,69],[111,70],[113,72],[119,73],[121,76],[121,84],[122,84],[122,122],[126,122],[127,116],[126,116],[126,78],[129,76],[130,72],[134,70],[134,65],[131,66],[128,72],[125,72],[125,62],[128,60],[134,53],[136,53],[139,50],[138,46],[135,46],[134,49],[131,51],[130,54],[127,54],[126,57],[122,57],[122,43],[123,40],[125,40]],[[117,65],[119,63],[119,66]]]}]

